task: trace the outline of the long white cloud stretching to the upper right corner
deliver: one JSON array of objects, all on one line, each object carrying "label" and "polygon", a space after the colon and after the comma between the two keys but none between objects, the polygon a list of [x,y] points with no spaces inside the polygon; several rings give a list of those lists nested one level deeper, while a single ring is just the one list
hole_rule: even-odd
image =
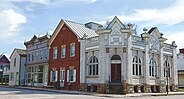
[{"label": "long white cloud stretching to the upper right corner", "polygon": [[[173,5],[163,9],[137,9],[131,15],[120,15],[123,21],[141,21],[149,24],[174,25],[184,21],[184,0],[177,0]],[[112,18],[110,16],[108,18]]]}]

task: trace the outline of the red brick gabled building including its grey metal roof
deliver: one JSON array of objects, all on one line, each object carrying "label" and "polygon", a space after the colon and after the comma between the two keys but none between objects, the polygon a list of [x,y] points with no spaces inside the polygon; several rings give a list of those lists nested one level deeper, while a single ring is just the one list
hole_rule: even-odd
[{"label": "red brick gabled building including its grey metal roof", "polygon": [[49,42],[49,86],[79,89],[80,39],[90,32],[83,24],[61,20]]}]

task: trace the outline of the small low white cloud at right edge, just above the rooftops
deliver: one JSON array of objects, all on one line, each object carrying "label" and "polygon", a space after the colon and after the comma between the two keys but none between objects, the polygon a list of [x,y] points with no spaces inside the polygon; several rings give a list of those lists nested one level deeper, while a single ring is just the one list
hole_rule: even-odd
[{"label": "small low white cloud at right edge, just above the rooftops", "polygon": [[168,39],[166,43],[171,44],[172,41],[176,41],[176,45],[178,48],[184,48],[184,31],[183,32],[176,32],[176,33],[169,33],[168,35],[165,35],[165,37]]}]

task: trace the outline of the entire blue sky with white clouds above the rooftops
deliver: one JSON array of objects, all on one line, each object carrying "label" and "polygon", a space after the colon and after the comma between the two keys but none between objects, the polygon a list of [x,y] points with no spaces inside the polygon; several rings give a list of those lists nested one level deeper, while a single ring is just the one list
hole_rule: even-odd
[{"label": "entire blue sky with white clouds above the rooftops", "polygon": [[52,33],[61,19],[105,24],[114,16],[136,24],[138,34],[157,26],[167,43],[184,48],[184,0],[0,0],[0,53]]}]

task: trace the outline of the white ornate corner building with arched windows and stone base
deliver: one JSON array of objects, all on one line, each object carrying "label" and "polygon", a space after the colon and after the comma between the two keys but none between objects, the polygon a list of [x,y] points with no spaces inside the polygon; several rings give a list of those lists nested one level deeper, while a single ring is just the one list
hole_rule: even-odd
[{"label": "white ornate corner building with arched windows and stone base", "polygon": [[174,41],[164,43],[167,39],[157,27],[138,36],[132,24],[122,24],[117,17],[105,28],[93,22],[85,25],[98,36],[80,40],[80,90],[165,92],[167,75],[169,90],[176,90],[177,46]]}]

